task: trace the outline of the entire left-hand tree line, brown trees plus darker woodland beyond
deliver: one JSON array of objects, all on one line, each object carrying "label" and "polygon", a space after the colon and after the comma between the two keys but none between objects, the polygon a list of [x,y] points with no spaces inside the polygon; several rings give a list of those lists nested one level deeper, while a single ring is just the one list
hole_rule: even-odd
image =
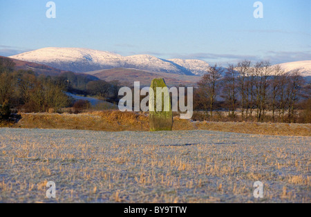
[{"label": "entire left-hand tree line, brown trees plus darker woodland beyond", "polygon": [[102,100],[117,102],[118,82],[105,82],[88,75],[72,72],[57,76],[37,75],[32,70],[15,70],[10,59],[0,58],[0,120],[10,113],[59,112],[79,106],[66,92],[93,95]]}]

